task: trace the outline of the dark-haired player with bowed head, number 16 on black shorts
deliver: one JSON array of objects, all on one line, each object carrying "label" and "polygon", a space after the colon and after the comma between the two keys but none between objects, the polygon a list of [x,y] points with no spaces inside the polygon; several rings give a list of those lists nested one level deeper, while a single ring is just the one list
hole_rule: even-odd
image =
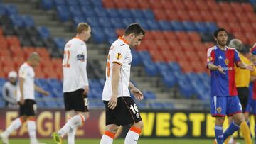
[{"label": "dark-haired player with bowed head, number 16 on black shorts", "polygon": [[142,100],[142,92],[130,82],[131,48],[140,45],[145,31],[138,23],[130,24],[122,37],[112,43],[107,56],[106,82],[102,100],[106,111],[106,129],[100,144],[112,144],[119,126],[131,125],[124,143],[136,144],[143,128],[142,118],[130,96]]}]

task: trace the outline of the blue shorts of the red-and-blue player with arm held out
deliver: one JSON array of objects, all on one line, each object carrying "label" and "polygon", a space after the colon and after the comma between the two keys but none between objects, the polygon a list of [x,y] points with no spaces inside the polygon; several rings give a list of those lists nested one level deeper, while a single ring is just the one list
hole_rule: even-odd
[{"label": "blue shorts of the red-and-blue player with arm held out", "polygon": [[242,106],[238,96],[211,96],[210,113],[213,117],[233,116],[235,113],[242,113]]}]

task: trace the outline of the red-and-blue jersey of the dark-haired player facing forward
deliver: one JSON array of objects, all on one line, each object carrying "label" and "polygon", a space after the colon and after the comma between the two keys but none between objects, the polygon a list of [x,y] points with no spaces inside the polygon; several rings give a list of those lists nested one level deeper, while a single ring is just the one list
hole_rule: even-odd
[{"label": "red-and-blue jersey of the dark-haired player facing forward", "polygon": [[220,65],[225,72],[225,74],[222,74],[218,70],[210,70],[211,96],[237,96],[235,63],[240,62],[238,51],[235,48],[228,47],[221,50],[216,45],[208,49],[207,62],[216,66]]}]

